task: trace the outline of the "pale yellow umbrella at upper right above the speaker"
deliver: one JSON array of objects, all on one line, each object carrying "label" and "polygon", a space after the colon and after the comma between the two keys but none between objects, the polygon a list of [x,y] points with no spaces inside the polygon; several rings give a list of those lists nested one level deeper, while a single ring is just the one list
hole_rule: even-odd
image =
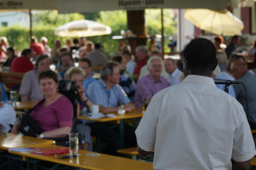
[{"label": "pale yellow umbrella at upper right above the speaker", "polygon": [[227,10],[186,9],[184,16],[198,28],[222,36],[240,35],[243,29],[242,20]]}]

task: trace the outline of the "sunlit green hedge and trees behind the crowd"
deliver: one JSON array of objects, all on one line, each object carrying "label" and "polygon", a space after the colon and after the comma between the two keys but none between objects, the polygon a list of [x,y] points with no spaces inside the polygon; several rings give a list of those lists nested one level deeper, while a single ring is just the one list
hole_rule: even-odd
[{"label": "sunlit green hedge and trees behind the crowd", "polygon": [[[161,11],[160,9],[145,10],[147,19],[147,29],[149,35],[161,34]],[[167,49],[168,37],[176,32],[177,21],[171,9],[163,10],[165,48]],[[98,42],[104,46],[104,52],[111,57],[119,48],[119,41],[113,40],[112,36],[119,36],[121,30],[127,31],[127,13],[126,11],[102,11],[92,14],[58,14],[57,11],[38,11],[32,14],[33,36],[39,40],[41,37],[48,37],[48,45],[54,47],[54,41],[60,39],[63,43],[66,37],[54,36],[54,29],[72,20],[95,20],[112,29],[111,35],[100,37],[87,37],[88,41]],[[1,35],[8,37],[9,45],[21,51],[30,46],[29,28],[19,25],[3,27],[0,29]],[[71,38],[70,38],[71,39]],[[168,51],[168,50],[166,50]]]}]

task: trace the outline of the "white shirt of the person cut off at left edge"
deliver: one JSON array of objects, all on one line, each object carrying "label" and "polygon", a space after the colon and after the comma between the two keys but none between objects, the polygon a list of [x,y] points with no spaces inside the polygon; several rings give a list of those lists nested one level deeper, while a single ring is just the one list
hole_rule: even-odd
[{"label": "white shirt of the person cut off at left edge", "polygon": [[1,132],[8,133],[11,127],[9,124],[14,125],[16,122],[16,113],[14,108],[9,104],[4,104],[0,107],[0,124],[3,127],[0,127]]}]

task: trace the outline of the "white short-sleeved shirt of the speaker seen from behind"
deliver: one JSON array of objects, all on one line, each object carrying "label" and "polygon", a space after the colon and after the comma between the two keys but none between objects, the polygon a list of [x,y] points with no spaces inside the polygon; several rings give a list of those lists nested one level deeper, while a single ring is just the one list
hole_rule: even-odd
[{"label": "white short-sleeved shirt of the speaker seen from behind", "polygon": [[242,105],[210,77],[188,76],[156,94],[135,133],[142,150],[155,150],[154,169],[231,169],[231,159],[256,154]]}]

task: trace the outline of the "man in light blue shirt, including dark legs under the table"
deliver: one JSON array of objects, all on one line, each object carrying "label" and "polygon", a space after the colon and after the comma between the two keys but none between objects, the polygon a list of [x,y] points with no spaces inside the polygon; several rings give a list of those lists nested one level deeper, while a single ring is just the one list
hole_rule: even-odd
[{"label": "man in light blue shirt, including dark legs under the table", "polygon": [[[95,105],[100,105],[100,111],[103,113],[113,113],[118,111],[118,105],[123,105],[125,111],[134,111],[134,104],[130,102],[125,94],[120,81],[120,68],[117,62],[107,62],[100,70],[101,79],[93,82],[88,88],[88,95]],[[117,149],[120,148],[119,128],[114,128],[112,123],[90,123],[92,135],[103,141],[106,145],[100,150],[105,154],[116,155]],[[125,147],[136,145],[134,128],[128,125],[124,127]]]}]

